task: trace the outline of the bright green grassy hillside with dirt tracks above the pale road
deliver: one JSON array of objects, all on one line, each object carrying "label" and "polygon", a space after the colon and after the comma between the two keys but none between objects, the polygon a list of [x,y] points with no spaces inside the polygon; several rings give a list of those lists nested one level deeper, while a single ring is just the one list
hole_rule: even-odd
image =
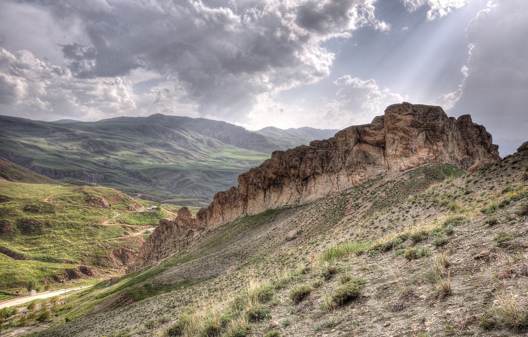
[{"label": "bright green grassy hillside with dirt tracks above the pale road", "polygon": [[[49,202],[42,201],[50,195]],[[124,232],[144,229],[139,224],[157,224],[162,217],[169,217],[164,211],[127,213],[126,207],[150,203],[105,187],[0,180],[0,196],[0,246],[28,258],[13,260],[0,254],[2,290],[23,288],[30,277],[42,283],[45,276],[74,267],[64,263],[67,261],[116,268],[116,260],[109,257],[112,249],[126,245],[137,251],[141,245],[141,240],[124,237]],[[102,208],[102,199],[111,206]],[[116,214],[122,215],[114,218]],[[109,225],[101,225],[108,219]]]}]

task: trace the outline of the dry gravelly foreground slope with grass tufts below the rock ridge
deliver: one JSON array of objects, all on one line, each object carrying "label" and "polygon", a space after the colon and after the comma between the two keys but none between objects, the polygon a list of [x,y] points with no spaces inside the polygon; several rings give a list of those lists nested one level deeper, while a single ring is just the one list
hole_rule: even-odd
[{"label": "dry gravelly foreground slope with grass tufts below the rock ridge", "polygon": [[[133,335],[153,336],[161,330],[136,322],[162,316],[179,316],[191,322],[192,335],[200,335],[222,314],[242,322],[249,307],[237,312],[229,299],[269,285],[273,301],[253,305],[269,309],[271,318],[250,323],[248,335],[524,335],[516,329],[526,328],[526,167],[528,151],[468,176],[447,165],[427,165],[313,204],[236,220],[203,233],[146,273],[123,277],[111,290],[100,284],[84,291],[103,290],[70,312],[72,323],[40,335],[102,335],[128,326]],[[285,240],[293,228],[302,232]],[[473,258],[483,251],[490,255]],[[418,252],[412,261],[404,257]],[[444,272],[435,268],[440,256],[449,261]],[[225,274],[231,265],[239,270]],[[334,267],[335,276],[320,276]],[[365,278],[361,292],[367,297],[325,309],[346,277]],[[291,290],[314,282],[320,285],[304,301],[291,301]],[[442,299],[446,283],[451,293]],[[231,335],[230,326],[220,328],[222,335]]]}]

